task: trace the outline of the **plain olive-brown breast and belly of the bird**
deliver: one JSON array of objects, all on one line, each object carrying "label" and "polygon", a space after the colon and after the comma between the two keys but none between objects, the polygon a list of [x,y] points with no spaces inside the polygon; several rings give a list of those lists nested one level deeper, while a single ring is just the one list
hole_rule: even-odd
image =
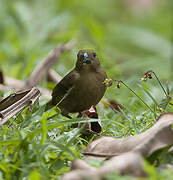
[{"label": "plain olive-brown breast and belly of the bird", "polygon": [[105,79],[105,76],[100,76],[98,73],[80,76],[61,106],[68,112],[81,112],[98,104],[106,90]]}]

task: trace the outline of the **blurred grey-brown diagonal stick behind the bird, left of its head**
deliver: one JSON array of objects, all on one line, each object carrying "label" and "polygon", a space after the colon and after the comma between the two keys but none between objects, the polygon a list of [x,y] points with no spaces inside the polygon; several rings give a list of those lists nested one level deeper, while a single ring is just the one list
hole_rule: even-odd
[{"label": "blurred grey-brown diagonal stick behind the bird, left of its head", "polygon": [[48,56],[35,68],[29,79],[25,82],[24,86],[21,89],[28,89],[33,86],[36,86],[43,77],[47,74],[49,69],[57,62],[60,55],[69,50],[74,44],[74,40],[69,41],[68,43],[54,48],[50,51]]}]

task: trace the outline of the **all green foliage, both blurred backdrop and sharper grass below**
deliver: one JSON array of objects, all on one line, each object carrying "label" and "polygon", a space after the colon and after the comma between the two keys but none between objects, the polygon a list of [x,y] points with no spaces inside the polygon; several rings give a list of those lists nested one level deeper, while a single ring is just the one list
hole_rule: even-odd
[{"label": "all green foliage, both blurred backdrop and sharper grass below", "polygon": [[[170,0],[156,2],[152,10],[140,12],[121,0],[0,0],[0,69],[7,76],[26,80],[50,49],[75,38],[75,47],[54,67],[58,73],[63,76],[73,67],[78,49],[94,48],[108,76],[122,79],[153,110],[125,86],[117,89],[113,84],[105,96],[125,108],[115,113],[108,106],[98,107],[102,135],[124,137],[145,131],[160,113],[173,111],[173,106],[165,105],[168,101],[156,79],[140,81],[152,69],[167,93],[173,94],[172,4]],[[41,85],[51,86],[45,81]],[[45,101],[40,99],[40,104]],[[58,179],[69,170],[71,160],[82,156],[81,147],[85,149],[98,137],[84,139],[81,129],[71,126],[86,120],[55,114],[55,109],[43,113],[42,106],[35,105],[0,127],[0,179]],[[154,165],[146,166],[151,179],[172,176],[167,170],[158,173]],[[134,179],[108,177],[115,178]]]}]

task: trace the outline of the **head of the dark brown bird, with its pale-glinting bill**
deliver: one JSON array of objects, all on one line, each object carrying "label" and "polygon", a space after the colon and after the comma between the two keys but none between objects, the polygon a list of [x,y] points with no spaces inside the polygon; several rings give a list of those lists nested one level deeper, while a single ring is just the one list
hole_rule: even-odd
[{"label": "head of the dark brown bird, with its pale-glinting bill", "polygon": [[99,59],[93,50],[80,50],[77,54],[78,70],[96,70],[100,66]]}]

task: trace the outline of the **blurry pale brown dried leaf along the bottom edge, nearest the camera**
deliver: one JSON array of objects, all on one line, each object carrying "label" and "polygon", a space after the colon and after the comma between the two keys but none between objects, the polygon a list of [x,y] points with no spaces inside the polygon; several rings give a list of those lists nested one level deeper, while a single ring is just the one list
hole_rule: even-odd
[{"label": "blurry pale brown dried leaf along the bottom edge, nearest the camera", "polygon": [[[93,168],[84,160],[75,160],[72,171],[66,173],[60,180],[103,180],[109,173],[130,174],[136,177],[146,177],[143,170],[142,156],[138,153],[128,152],[106,161],[100,168]],[[92,169],[93,168],[93,169]]]}]

